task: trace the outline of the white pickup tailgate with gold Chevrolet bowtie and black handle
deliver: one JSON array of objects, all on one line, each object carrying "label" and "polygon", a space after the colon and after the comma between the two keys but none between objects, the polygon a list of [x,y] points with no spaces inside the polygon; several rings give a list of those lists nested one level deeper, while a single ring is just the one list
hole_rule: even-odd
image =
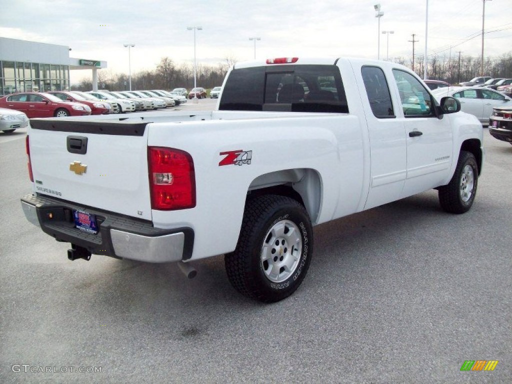
[{"label": "white pickup tailgate with gold Chevrolet bowtie and black handle", "polygon": [[147,124],[32,119],[35,192],[151,220]]}]

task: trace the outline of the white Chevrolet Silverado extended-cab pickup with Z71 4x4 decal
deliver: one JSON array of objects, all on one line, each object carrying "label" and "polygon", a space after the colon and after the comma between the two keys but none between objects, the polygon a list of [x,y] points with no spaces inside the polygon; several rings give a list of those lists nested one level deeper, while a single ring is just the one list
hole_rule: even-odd
[{"label": "white Chevrolet Silverado extended-cab pickup with Z71 4x4 decal", "polygon": [[212,112],[32,119],[27,219],[68,257],[151,263],[225,255],[234,288],[276,302],[301,284],[312,226],[436,188],[471,208],[482,126],[407,68],[351,58],[237,63]]}]

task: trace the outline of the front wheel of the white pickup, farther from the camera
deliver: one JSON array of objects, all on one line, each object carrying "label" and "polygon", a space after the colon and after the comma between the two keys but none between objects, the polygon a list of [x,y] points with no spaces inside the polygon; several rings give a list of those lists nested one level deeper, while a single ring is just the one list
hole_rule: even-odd
[{"label": "front wheel of the white pickup, farther from the camera", "polygon": [[439,187],[441,208],[452,214],[470,210],[478,186],[478,164],[471,152],[461,151],[457,168],[450,183]]}]

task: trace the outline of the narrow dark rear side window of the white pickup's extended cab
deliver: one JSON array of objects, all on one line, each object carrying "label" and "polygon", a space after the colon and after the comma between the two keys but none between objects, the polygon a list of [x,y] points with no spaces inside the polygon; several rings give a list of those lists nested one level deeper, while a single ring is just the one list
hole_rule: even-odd
[{"label": "narrow dark rear side window of the white pickup's extended cab", "polygon": [[366,94],[375,117],[393,118],[393,103],[389,92],[388,82],[382,69],[378,67],[362,67],[362,80],[365,82]]}]

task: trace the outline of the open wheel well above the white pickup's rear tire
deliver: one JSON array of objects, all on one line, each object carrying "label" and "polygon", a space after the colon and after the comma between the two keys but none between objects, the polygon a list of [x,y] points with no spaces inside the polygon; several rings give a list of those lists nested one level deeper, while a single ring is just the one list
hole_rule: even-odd
[{"label": "open wheel well above the white pickup's rear tire", "polygon": [[284,169],[254,179],[247,191],[247,199],[262,195],[290,197],[301,203],[315,223],[322,202],[322,183],[314,169]]}]

